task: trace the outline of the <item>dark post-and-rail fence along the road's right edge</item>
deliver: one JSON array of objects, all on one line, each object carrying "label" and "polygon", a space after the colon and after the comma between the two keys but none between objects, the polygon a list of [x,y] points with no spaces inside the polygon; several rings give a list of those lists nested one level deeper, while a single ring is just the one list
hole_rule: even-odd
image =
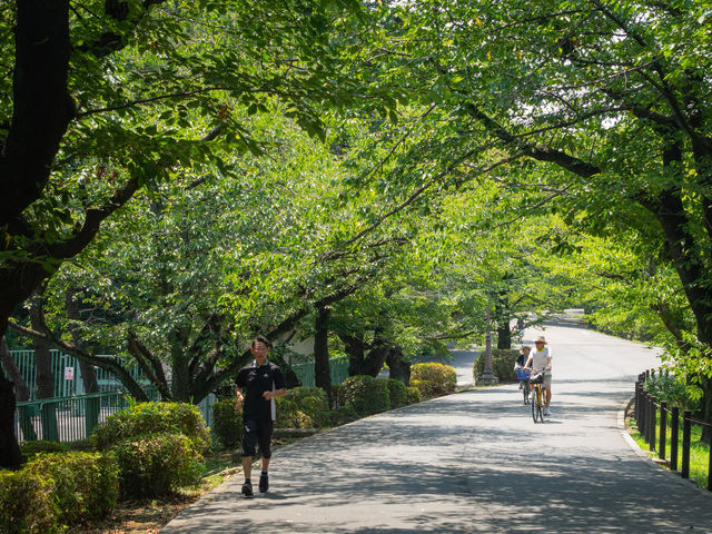
[{"label": "dark post-and-rail fence along the road's right edge", "polygon": [[[635,407],[634,417],[639,432],[644,436],[650,451],[657,452],[657,458],[668,464],[671,471],[678,471],[680,459],[680,476],[690,478],[690,445],[692,436],[692,425],[712,427],[704,421],[694,419],[689,409],[682,413],[682,457],[679,458],[680,445],[680,408],[669,407],[664,400],[657,399],[645,392],[645,380],[654,376],[654,370],[641,373],[635,382]],[[660,422],[659,422],[660,419]],[[668,429],[670,428],[670,457],[668,451]],[[706,488],[712,492],[712,451],[708,461]]]}]

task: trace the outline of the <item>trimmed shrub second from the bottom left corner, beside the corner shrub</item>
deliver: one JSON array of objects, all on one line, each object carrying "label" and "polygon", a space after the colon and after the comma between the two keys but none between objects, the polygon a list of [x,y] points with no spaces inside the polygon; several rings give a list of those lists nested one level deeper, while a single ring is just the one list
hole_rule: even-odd
[{"label": "trimmed shrub second from the bottom left corner, beside the corner shrub", "polygon": [[119,498],[119,467],[112,453],[42,454],[24,469],[52,483],[65,524],[106,517]]}]

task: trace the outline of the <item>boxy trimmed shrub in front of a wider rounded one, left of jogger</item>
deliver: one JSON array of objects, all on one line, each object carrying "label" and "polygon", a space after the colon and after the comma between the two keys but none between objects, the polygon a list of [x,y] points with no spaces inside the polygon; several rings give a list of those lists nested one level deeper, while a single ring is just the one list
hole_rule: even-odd
[{"label": "boxy trimmed shrub in front of a wider rounded one, left of jogger", "polygon": [[158,497],[196,485],[201,455],[184,434],[152,434],[121,442],[116,447],[121,496]]}]

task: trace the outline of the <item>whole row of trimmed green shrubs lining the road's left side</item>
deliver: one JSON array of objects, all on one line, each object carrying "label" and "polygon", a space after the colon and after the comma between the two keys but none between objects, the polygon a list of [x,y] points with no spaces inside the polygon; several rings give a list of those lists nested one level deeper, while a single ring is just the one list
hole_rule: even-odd
[{"label": "whole row of trimmed green shrubs lining the road's left side", "polygon": [[[424,364],[419,387],[453,390],[454,369]],[[319,388],[298,387],[278,399],[279,429],[338,426],[421,400],[418,387],[394,379],[355,376],[336,390],[337,405]],[[67,445],[30,442],[18,472],[0,472],[3,534],[138,534],[158,532],[182,508],[241,472],[241,414],[235,398],[214,406],[214,433],[199,411],[179,403],[144,403],[112,415],[91,439]],[[276,437],[279,449],[294,441]],[[257,458],[259,459],[259,458]],[[239,478],[239,477],[236,477]]]}]

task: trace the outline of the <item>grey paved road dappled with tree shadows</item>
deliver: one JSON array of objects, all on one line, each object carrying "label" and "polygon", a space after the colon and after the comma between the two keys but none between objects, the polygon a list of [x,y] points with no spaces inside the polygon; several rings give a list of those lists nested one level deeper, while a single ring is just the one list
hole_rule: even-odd
[{"label": "grey paved road dappled with tree shadows", "polygon": [[236,476],[161,532],[712,532],[712,497],[641,459],[617,427],[654,354],[575,324],[544,334],[554,354],[545,424],[516,386],[389,412],[280,449],[270,493],[244,500]]}]

